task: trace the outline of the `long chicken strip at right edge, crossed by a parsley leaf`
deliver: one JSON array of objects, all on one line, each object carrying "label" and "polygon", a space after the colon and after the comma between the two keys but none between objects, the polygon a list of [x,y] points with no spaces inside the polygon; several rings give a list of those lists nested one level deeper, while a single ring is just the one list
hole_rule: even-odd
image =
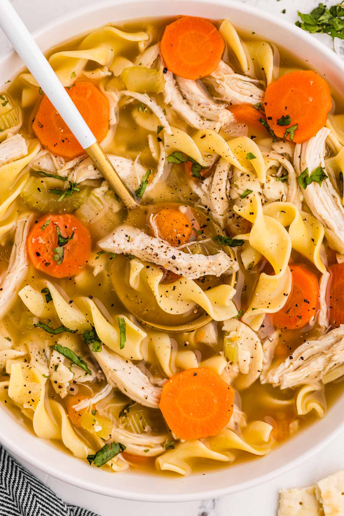
[{"label": "long chicken strip at right edge, crossed by a parsley leaf", "polygon": [[[298,175],[306,168],[311,174],[317,167],[324,167],[325,139],[329,132],[323,127],[313,138],[295,146],[294,166]],[[324,225],[330,246],[344,253],[344,207],[330,178],[321,186],[314,182],[308,185],[303,190],[303,197],[310,211]]]}]

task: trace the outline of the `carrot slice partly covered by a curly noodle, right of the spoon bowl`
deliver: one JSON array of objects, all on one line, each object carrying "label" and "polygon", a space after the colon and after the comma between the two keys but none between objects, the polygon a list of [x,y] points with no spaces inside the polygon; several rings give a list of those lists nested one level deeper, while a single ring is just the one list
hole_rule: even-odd
[{"label": "carrot slice partly covered by a curly noodle, right of the spoon bowl", "polygon": [[296,330],[306,326],[318,309],[319,284],[316,275],[305,265],[290,265],[292,289],[279,312],[272,314],[276,328]]}]

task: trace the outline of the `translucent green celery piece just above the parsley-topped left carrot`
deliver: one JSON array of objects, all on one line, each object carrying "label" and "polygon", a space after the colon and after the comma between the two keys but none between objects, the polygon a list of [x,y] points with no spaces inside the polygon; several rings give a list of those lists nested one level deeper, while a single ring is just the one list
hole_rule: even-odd
[{"label": "translucent green celery piece just above the parsley-topped left carrot", "polygon": [[80,188],[72,196],[65,196],[58,201],[59,195],[51,193],[50,189],[61,188],[62,181],[53,178],[36,178],[31,176],[23,190],[21,198],[31,209],[43,213],[71,213],[85,202],[89,188]]}]

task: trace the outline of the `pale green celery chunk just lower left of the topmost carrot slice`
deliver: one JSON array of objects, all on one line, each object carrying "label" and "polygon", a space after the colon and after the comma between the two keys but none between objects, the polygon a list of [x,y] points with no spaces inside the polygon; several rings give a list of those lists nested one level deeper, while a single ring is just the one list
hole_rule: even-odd
[{"label": "pale green celery chunk just lower left of the topmost carrot slice", "polygon": [[160,93],[165,88],[162,71],[143,66],[124,68],[120,77],[126,88],[131,91]]}]

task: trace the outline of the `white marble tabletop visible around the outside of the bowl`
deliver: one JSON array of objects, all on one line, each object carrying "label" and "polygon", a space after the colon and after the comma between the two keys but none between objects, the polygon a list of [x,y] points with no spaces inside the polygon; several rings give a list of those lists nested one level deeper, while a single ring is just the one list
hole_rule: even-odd
[{"label": "white marble tabletop visible around the outside of the bowl", "polygon": [[[25,0],[13,0],[13,5],[29,30],[34,31],[61,14],[66,14],[93,2],[94,0],[59,0],[58,2],[31,0],[28,3]],[[297,20],[298,9],[302,12],[309,12],[318,5],[318,0],[242,0],[242,2],[268,10],[284,19],[286,23],[294,23]],[[333,3],[335,3],[333,0],[328,2],[330,5]],[[282,13],[284,9],[286,12]],[[330,48],[332,47],[330,37],[324,35],[316,35],[315,37]],[[7,45],[7,41],[0,34],[0,49],[4,49]],[[336,49],[338,54],[344,57],[344,44],[336,41]],[[249,516],[251,514],[255,514],[255,516],[275,516],[280,489],[307,486],[326,475],[343,469],[343,450],[344,434],[332,441],[325,449],[303,465],[263,486],[220,499],[182,504],[139,503],[96,495],[56,480],[28,464],[25,465],[66,502],[87,507],[101,516],[112,516],[114,513],[139,514],[140,516],[160,516],[160,514],[164,516]],[[259,461],[256,464],[259,470]]]}]

